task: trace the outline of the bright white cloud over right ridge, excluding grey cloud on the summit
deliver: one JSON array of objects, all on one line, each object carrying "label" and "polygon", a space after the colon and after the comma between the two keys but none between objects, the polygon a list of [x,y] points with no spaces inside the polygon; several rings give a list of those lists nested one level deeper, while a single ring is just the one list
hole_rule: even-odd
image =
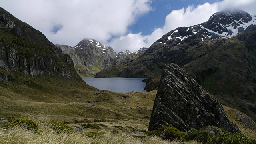
[{"label": "bright white cloud over right ridge, excluding grey cloud on the summit", "polygon": [[165,18],[164,27],[156,28],[150,35],[143,36],[141,33],[127,34],[126,36],[112,40],[109,45],[118,51],[127,49],[136,51],[144,46],[149,47],[167,32],[180,26],[192,26],[206,22],[217,11],[218,4],[216,3],[205,3],[196,7],[188,6],[186,9],[172,10]]}]

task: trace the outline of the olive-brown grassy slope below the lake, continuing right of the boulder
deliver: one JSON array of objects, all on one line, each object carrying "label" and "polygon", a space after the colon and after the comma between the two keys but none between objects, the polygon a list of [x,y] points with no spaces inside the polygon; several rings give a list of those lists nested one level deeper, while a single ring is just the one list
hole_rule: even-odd
[{"label": "olive-brown grassy slope below the lake, continuing right of the boulder", "polygon": [[[50,76],[27,76],[30,82],[0,83],[0,117],[23,117],[28,114],[48,117],[60,122],[84,123],[84,120],[106,119],[106,130],[148,129],[156,90],[152,92],[115,93],[98,90],[83,81]],[[122,96],[130,97],[123,98]],[[90,101],[91,103],[88,103]],[[95,103],[94,103],[95,102]],[[244,128],[236,117],[237,110],[224,107],[229,118],[249,137],[256,132]],[[116,126],[116,127],[115,127]],[[255,125],[256,127],[256,125]]]}]

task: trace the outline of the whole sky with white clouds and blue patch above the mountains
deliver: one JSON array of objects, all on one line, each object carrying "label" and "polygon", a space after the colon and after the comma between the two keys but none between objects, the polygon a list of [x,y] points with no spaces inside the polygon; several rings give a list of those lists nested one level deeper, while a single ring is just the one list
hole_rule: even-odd
[{"label": "whole sky with white clouds and blue patch above the mountains", "polygon": [[0,0],[0,6],[54,44],[74,47],[93,38],[117,53],[149,47],[221,10],[256,14],[256,0]]}]

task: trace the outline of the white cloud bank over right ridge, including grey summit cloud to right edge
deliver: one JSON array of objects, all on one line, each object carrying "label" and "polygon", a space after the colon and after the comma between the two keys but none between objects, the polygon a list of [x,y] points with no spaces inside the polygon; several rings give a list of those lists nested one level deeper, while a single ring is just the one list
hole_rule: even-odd
[{"label": "white cloud bank over right ridge, including grey summit cloud to right edge", "polygon": [[[180,26],[193,26],[206,22],[212,14],[220,10],[234,10],[241,9],[250,14],[256,14],[256,0],[223,0],[210,3],[204,3],[197,6],[188,6],[187,8],[181,8],[179,10],[172,10],[165,18],[165,24],[162,28],[156,28],[152,34],[144,36],[141,33],[136,35],[136,41],[133,41],[133,34],[128,34],[127,36],[122,36],[125,40],[114,39],[110,45],[116,50],[126,50],[136,51],[144,46],[149,47],[156,40],[162,37],[162,35],[174,30]],[[129,40],[131,39],[131,40]],[[120,41],[120,42],[118,42]],[[117,45],[118,44],[118,45]],[[123,45],[121,47],[121,45]],[[130,47],[132,46],[132,47]]]}]

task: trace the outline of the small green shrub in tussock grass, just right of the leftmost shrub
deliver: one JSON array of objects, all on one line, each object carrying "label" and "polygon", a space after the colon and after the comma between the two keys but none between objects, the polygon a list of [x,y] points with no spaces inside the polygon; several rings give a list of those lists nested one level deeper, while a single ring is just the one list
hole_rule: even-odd
[{"label": "small green shrub in tussock grass, just right of the leftmost shrub", "polygon": [[73,132],[73,128],[68,126],[67,124],[63,124],[62,122],[55,122],[55,121],[50,121],[49,122],[50,127],[53,130],[56,130],[57,132]]}]

